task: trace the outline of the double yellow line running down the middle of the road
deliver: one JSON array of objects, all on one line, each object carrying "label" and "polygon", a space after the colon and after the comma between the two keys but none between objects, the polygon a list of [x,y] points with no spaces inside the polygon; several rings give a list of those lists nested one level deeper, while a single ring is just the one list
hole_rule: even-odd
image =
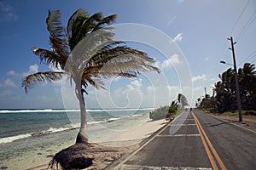
[{"label": "double yellow line running down the middle of the road", "polygon": [[[205,133],[204,129],[201,127],[201,124],[200,122],[198,121],[197,117],[195,116],[195,113],[193,111],[191,111],[192,113],[192,116],[194,117],[195,119],[195,124],[196,124],[196,127],[200,133],[200,136],[201,136],[201,141],[207,151],[207,156],[212,164],[212,168],[213,170],[217,170],[218,169],[218,166],[216,164],[216,161],[214,160],[213,156],[215,156],[216,160],[218,161],[218,165],[219,167],[222,169],[222,170],[226,170],[227,168],[224,166],[224,163],[223,161],[221,161],[220,157],[218,156],[218,153],[217,151],[214,149],[214,147],[212,146],[212,143],[211,141],[209,140],[209,138],[207,137],[207,133]],[[211,152],[212,150],[212,152]],[[213,154],[213,156],[212,156]]]}]

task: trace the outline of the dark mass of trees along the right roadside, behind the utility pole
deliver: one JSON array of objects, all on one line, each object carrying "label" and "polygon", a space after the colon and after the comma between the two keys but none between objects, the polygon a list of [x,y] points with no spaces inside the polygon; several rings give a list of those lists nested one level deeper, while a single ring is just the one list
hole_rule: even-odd
[{"label": "dark mass of trees along the right roadside, behind the utility pole", "polygon": [[[198,98],[196,107],[226,115],[238,115],[236,103],[235,71],[228,69],[218,77],[220,81],[213,87],[213,94]],[[256,116],[256,70],[255,65],[245,63],[238,69],[238,82],[241,97],[241,110],[244,115]]]}]

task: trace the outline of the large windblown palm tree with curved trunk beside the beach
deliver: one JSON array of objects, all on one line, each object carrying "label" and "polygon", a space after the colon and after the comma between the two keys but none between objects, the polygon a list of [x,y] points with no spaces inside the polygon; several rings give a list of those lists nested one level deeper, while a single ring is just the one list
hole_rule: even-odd
[{"label": "large windblown palm tree with curved trunk beside the beach", "polygon": [[[155,60],[137,49],[125,46],[125,42],[113,41],[110,24],[117,14],[103,17],[102,13],[89,16],[79,8],[68,20],[67,28],[61,24],[60,10],[49,11],[46,19],[50,50],[32,48],[41,62],[60,71],[37,72],[23,78],[22,87],[28,88],[38,82],[61,80],[64,75],[75,84],[79,99],[80,129],[76,144],[88,143],[84,94],[89,85],[104,88],[102,78],[137,77],[143,71],[160,70]],[[71,81],[71,82],[72,82]]]}]

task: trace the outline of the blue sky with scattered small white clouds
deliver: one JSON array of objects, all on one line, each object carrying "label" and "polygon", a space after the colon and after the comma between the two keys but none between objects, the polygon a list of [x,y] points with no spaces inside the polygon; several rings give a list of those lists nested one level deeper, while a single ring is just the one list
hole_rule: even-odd
[{"label": "blue sky with scattered small white clouds", "polygon": [[184,94],[189,104],[212,95],[218,74],[232,64],[230,41],[236,41],[236,65],[256,60],[255,0],[0,0],[0,109],[77,108],[67,80],[47,82],[25,93],[22,77],[53,70],[40,63],[32,48],[49,49],[45,19],[61,10],[62,24],[78,8],[89,14],[118,14],[116,40],[146,52],[161,73],[105,80],[108,90],[88,88],[87,108],[144,108],[169,105]]}]

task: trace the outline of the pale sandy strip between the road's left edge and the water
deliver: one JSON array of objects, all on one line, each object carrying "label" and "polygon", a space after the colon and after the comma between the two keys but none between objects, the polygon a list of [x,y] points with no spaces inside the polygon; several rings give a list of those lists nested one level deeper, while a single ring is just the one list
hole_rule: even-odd
[{"label": "pale sandy strip between the road's left edge and the water", "polygon": [[[166,125],[166,120],[148,121],[123,133],[113,135],[111,141],[102,143],[90,143],[86,149],[86,155],[94,157],[93,165],[88,169],[104,169],[118,161],[123,156],[137,150],[144,140],[150,138],[156,131]],[[64,149],[64,148],[63,148]],[[43,170],[48,167],[48,162],[42,162],[37,166],[26,168],[27,170]]]}]

